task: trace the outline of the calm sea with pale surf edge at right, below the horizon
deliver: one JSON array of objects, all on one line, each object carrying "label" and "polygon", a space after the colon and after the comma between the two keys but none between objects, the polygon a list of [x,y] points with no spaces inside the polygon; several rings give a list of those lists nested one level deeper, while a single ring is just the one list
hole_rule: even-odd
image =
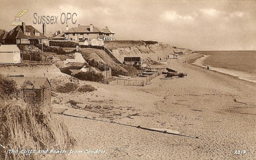
[{"label": "calm sea with pale surf edge at right, below the horizon", "polygon": [[256,51],[197,51],[194,65],[256,83]]}]

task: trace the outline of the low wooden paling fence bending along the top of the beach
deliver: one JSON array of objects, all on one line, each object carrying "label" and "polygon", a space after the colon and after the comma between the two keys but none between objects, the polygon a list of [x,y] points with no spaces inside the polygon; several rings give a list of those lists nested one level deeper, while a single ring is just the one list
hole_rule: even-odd
[{"label": "low wooden paling fence bending along the top of the beach", "polygon": [[108,84],[113,85],[123,85],[123,86],[145,86],[149,81],[155,79],[157,76],[162,74],[165,68],[158,70],[151,76],[148,76],[146,79],[142,78],[141,80],[132,80],[132,79],[108,79]]}]

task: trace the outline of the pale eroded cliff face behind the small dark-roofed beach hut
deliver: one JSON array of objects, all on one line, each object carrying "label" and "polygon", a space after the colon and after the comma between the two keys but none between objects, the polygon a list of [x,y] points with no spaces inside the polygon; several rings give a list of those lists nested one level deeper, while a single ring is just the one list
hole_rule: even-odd
[{"label": "pale eroded cliff face behind the small dark-roofed beach hut", "polygon": [[[154,45],[133,45],[129,47],[117,47],[112,49],[112,54],[122,63],[126,56],[139,56],[143,59],[143,63],[157,62],[158,60],[166,60],[170,53],[174,53],[176,49],[166,44]],[[191,53],[187,49],[181,49],[183,53]]]}]

